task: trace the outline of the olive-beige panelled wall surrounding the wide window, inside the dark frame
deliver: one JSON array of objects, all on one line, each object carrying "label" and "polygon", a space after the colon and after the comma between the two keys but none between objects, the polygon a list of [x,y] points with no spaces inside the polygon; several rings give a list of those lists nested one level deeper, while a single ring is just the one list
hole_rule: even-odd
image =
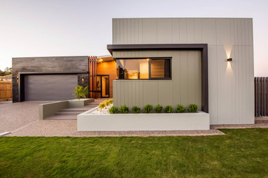
[{"label": "olive-beige panelled wall surrounding the wide window, inside the dark frame", "polygon": [[114,51],[113,58],[172,57],[172,79],[115,80],[113,102],[116,106],[197,104],[201,110],[200,51]]}]

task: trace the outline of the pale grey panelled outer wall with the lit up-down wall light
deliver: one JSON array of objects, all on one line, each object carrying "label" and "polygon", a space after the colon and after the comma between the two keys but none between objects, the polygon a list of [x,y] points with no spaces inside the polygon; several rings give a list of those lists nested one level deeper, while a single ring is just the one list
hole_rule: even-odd
[{"label": "pale grey panelled outer wall with the lit up-down wall light", "polygon": [[210,124],[254,123],[252,18],[113,18],[113,44],[169,43],[208,44]]}]

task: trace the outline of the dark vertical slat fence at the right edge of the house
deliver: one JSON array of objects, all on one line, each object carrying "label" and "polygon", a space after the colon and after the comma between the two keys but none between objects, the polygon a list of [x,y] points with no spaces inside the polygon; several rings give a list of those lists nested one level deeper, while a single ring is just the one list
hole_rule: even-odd
[{"label": "dark vertical slat fence at the right edge of the house", "polygon": [[268,116],[268,77],[255,77],[255,116]]}]

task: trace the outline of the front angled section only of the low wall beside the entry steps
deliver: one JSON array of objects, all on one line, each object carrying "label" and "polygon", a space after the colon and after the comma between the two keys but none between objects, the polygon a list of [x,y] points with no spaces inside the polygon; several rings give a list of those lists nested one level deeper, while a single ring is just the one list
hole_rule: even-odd
[{"label": "front angled section only of the low wall beside the entry steps", "polygon": [[59,110],[63,110],[68,105],[68,101],[57,101],[53,103],[39,105],[39,119],[48,118],[53,116]]}]

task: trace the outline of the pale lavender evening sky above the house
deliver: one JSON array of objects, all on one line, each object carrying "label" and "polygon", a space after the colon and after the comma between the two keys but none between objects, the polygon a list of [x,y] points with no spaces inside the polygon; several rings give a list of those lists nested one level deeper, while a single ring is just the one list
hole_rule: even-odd
[{"label": "pale lavender evening sky above the house", "polygon": [[255,76],[268,77],[268,0],[0,0],[0,69],[15,57],[108,55],[120,17],[253,18]]}]

